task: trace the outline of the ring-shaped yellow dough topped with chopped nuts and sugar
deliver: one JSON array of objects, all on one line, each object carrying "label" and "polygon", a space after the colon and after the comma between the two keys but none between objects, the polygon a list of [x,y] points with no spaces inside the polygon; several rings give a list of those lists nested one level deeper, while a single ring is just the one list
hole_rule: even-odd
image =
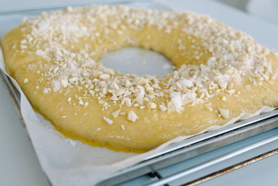
[{"label": "ring-shaped yellow dough topped with chopped nuts and sugar", "polygon": [[[140,77],[98,63],[128,46],[160,52],[177,70]],[[277,56],[195,13],[67,8],[24,20],[1,47],[6,71],[54,125],[113,146],[147,150],[278,106]]]}]

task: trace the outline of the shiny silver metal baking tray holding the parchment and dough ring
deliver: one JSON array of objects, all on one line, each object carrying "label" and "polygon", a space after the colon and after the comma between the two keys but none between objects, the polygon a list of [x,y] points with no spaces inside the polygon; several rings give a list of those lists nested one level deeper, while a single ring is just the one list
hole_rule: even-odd
[{"label": "shiny silver metal baking tray holding the parchment and dough ring", "polygon": [[[108,3],[108,4],[117,4],[117,3],[129,4],[134,2],[135,5],[136,2],[138,3],[138,1],[105,1],[105,2],[101,1],[101,3]],[[99,3],[99,1],[97,1],[97,3]],[[88,5],[89,3],[72,5],[72,6],[88,6]],[[138,5],[147,6],[149,8],[151,8],[150,6],[152,6],[153,8],[168,9],[162,6],[161,4],[153,3],[152,1],[151,2],[140,1]],[[38,15],[38,13],[42,11],[57,10],[65,7],[66,6],[59,6],[59,7],[49,7],[49,8],[37,8],[31,10],[0,12],[0,17],[8,16],[8,15],[25,15],[25,14]],[[6,30],[8,31],[9,29],[10,28],[7,28]],[[1,36],[3,36],[3,32],[0,32],[0,37]],[[17,113],[19,114],[19,118],[21,119],[22,125],[25,128],[26,126],[24,124],[19,109],[20,94],[15,88],[15,86],[13,86],[13,83],[10,81],[10,79],[1,70],[0,70],[0,77],[3,81],[3,84],[6,86],[6,89],[10,95],[11,100],[13,100],[13,103],[15,104],[15,108],[17,109]],[[238,123],[228,125],[226,127],[222,127],[218,130],[213,130],[211,132],[200,134],[190,139],[181,141],[177,144],[172,144],[170,148],[167,148],[166,150],[163,150],[160,153],[156,153],[155,155],[147,157],[143,162],[140,162],[139,164],[131,166],[128,169],[118,171],[117,173],[113,173],[110,178],[99,183],[99,185],[113,185],[117,183],[122,183],[132,178],[136,178],[138,176],[145,175],[147,173],[154,173],[155,171],[163,167],[176,164],[177,162],[187,160],[190,157],[195,157],[202,153],[206,153],[210,150],[220,148],[222,146],[226,146],[228,144],[234,143],[236,141],[240,141],[242,139],[246,139],[248,137],[252,137],[256,134],[260,134],[268,130],[272,130],[276,127],[278,127],[277,109],[268,112],[266,114],[261,114],[260,116],[249,118],[245,121],[240,121]],[[270,139],[270,141],[271,140],[273,139]],[[156,184],[160,185],[160,184],[167,183],[167,180],[165,181]]]}]

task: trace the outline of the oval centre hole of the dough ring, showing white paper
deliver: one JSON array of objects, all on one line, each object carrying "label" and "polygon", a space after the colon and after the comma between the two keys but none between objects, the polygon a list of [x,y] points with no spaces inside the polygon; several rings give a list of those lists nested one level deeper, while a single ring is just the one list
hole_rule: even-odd
[{"label": "oval centre hole of the dough ring, showing white paper", "polygon": [[176,69],[172,61],[163,54],[141,47],[123,47],[108,52],[99,62],[122,75],[163,76]]}]

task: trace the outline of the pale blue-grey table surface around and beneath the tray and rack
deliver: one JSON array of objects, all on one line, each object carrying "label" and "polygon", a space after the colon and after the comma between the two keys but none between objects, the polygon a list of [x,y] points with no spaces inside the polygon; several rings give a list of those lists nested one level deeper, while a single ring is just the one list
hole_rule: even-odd
[{"label": "pale blue-grey table surface around and beneath the tray and rack", "polygon": [[[82,1],[92,2],[92,1]],[[209,14],[220,22],[224,22],[236,29],[243,30],[251,34],[256,40],[270,47],[278,48],[278,26],[268,24],[263,20],[244,15],[238,10],[231,8],[223,8],[221,4],[211,1],[181,1],[172,0],[165,1],[166,3],[179,8],[179,10],[194,10],[199,13]],[[21,0],[1,0],[0,11],[15,10],[24,8],[38,8],[43,6],[60,6],[65,4],[76,4],[80,1],[74,0],[47,0],[47,1],[21,1]],[[231,1],[230,1],[231,3]],[[244,2],[234,1],[234,5],[244,9]],[[5,25],[1,25],[5,26]],[[0,81],[0,185],[49,185],[47,178],[40,169],[40,164],[35,155],[31,142],[28,140],[28,135],[22,127],[22,123],[15,111],[13,103],[9,95],[3,87],[3,82]],[[275,133],[276,132],[276,133]],[[278,134],[277,130],[273,130],[268,134],[262,134],[259,137],[253,137],[245,141],[240,141],[228,147],[213,150],[211,153],[195,157],[186,164],[201,162],[208,157],[215,157],[225,153],[231,149],[236,149],[244,144],[251,143],[269,134]],[[265,150],[277,148],[278,144],[269,144],[259,150],[247,153],[245,158],[250,158]],[[228,163],[238,161],[236,158]],[[161,174],[167,175],[173,169],[181,169],[183,164],[172,166],[169,169],[163,169]],[[197,173],[195,176],[201,175]],[[142,177],[132,182],[133,185],[142,181],[148,181]],[[182,182],[181,182],[182,183]],[[178,184],[178,183],[176,183]],[[131,183],[126,183],[131,185]],[[245,166],[224,176],[209,180],[202,185],[278,185],[278,155],[268,157],[252,165]]]}]

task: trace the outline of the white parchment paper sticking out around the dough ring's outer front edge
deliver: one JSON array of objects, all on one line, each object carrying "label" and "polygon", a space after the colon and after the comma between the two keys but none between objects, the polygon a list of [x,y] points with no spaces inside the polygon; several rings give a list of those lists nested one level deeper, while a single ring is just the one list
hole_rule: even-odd
[{"label": "white parchment paper sticking out around the dough ring's outer front edge", "polygon": [[[5,72],[1,48],[0,68]],[[111,176],[112,173],[137,164],[145,158],[169,148],[170,144],[197,135],[177,137],[142,154],[115,152],[107,148],[88,146],[80,141],[66,139],[63,134],[54,129],[49,121],[45,121],[42,116],[36,114],[15,79],[11,77],[10,79],[21,95],[20,110],[22,117],[26,123],[29,137],[38,155],[42,169],[47,174],[52,185],[95,185]],[[263,107],[254,114],[243,113],[223,126],[213,125],[198,134],[216,130],[238,120],[258,116],[263,112],[274,109],[272,107]]]}]

